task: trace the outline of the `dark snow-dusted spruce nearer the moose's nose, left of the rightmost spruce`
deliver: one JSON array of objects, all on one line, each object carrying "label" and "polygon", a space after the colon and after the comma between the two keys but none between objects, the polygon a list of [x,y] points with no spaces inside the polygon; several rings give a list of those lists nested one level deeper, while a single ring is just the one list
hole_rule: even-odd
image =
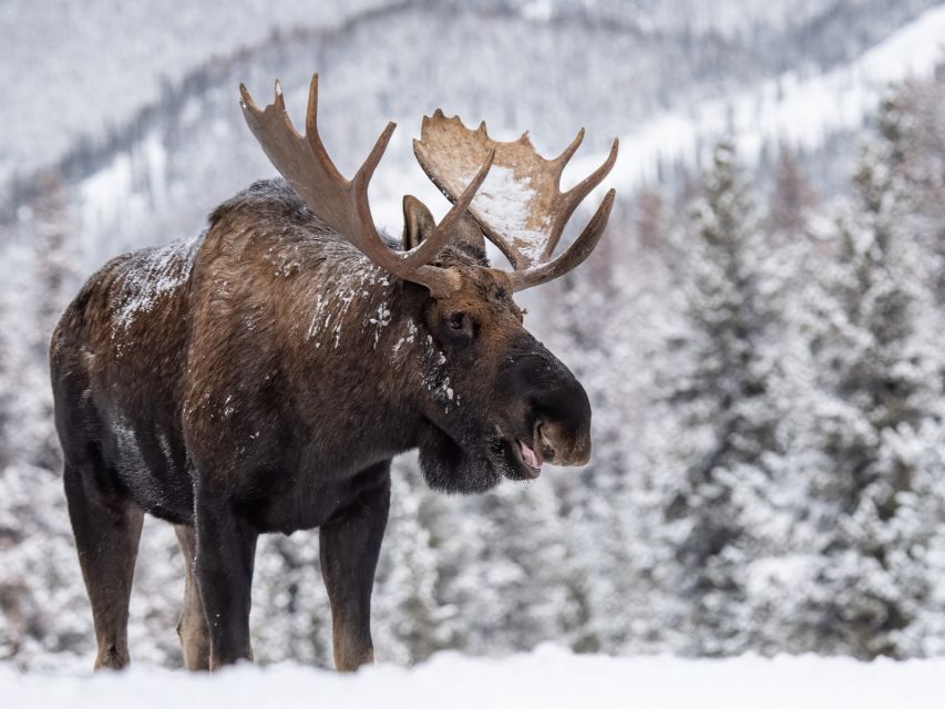
[{"label": "dark snow-dusted spruce nearer the moose's nose, left of the rightmost spruce", "polygon": [[[782,467],[778,350],[783,275],[769,257],[731,145],[720,143],[678,245],[685,322],[671,332],[655,417],[653,499],[674,571],[661,583],[686,653],[744,649],[747,569],[780,514],[769,493]],[[661,450],[659,450],[661,449]]]}]

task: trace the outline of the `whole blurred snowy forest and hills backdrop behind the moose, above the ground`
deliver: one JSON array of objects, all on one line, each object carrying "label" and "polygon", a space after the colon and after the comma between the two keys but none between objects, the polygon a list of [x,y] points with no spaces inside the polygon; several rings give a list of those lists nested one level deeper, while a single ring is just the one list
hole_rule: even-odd
[{"label": "whole blurred snowy forest and hills backdrop behind the moose, above the ground", "polygon": [[[106,258],[188,237],[273,168],[237,107],[281,78],[343,172],[446,203],[410,153],[442,106],[556,154],[622,152],[610,228],[526,323],[594,405],[594,460],[479,497],[397,464],[378,658],[945,655],[945,6],[460,0],[0,7],[0,659],[94,653],[47,345]],[[566,177],[569,173],[566,173]],[[596,205],[592,197],[588,204]],[[575,219],[581,222],[581,219]],[[583,226],[576,225],[576,226]],[[179,666],[183,563],[146,524],[137,660]],[[330,665],[317,533],[260,544],[257,659]]]}]

